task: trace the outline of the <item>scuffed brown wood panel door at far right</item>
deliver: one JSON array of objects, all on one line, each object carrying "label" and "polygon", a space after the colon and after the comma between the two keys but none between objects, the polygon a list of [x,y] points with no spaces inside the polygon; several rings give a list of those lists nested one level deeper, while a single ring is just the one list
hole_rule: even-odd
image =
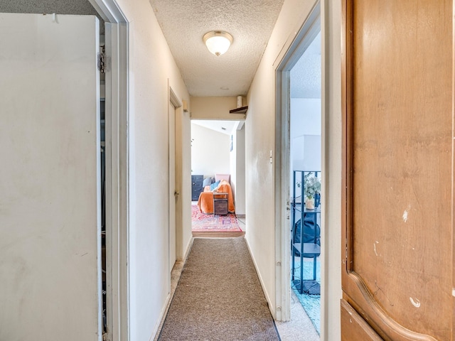
[{"label": "scuffed brown wood panel door at far right", "polygon": [[343,0],[342,340],[454,340],[452,6]]}]

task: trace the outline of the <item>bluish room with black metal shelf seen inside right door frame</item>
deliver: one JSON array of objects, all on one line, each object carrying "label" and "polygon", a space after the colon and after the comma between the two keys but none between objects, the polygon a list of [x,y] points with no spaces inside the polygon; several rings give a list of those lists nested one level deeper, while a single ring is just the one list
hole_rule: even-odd
[{"label": "bluish room with black metal shelf seen inside right door frame", "polygon": [[[313,38],[314,33],[317,35]],[[321,31],[290,70],[291,297],[321,332]]]}]

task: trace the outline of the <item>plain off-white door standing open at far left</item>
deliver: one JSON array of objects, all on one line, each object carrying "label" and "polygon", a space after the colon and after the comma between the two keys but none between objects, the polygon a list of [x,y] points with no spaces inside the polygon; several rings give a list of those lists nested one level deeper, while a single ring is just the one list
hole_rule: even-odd
[{"label": "plain off-white door standing open at far left", "polygon": [[101,340],[98,41],[0,13],[0,340]]}]

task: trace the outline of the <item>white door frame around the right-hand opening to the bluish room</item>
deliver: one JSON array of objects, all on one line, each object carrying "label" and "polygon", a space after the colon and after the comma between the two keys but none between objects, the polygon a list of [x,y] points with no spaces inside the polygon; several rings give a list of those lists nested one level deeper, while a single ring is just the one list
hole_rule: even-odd
[{"label": "white door frame around the right-hand opening to the bluish room", "polygon": [[[279,321],[291,320],[291,245],[290,245],[290,72],[292,67],[297,63],[304,50],[313,41],[314,37],[321,31],[321,1],[315,1],[313,9],[309,16],[306,17],[304,24],[299,28],[298,33],[292,41],[289,49],[284,54],[281,62],[276,69],[276,108],[275,108],[275,155],[274,164],[275,172],[275,297],[276,297],[276,319]],[[323,40],[323,33],[321,33]],[[323,49],[322,49],[323,50]],[[323,59],[323,51],[321,51]],[[324,65],[321,65],[322,73]],[[321,101],[323,101],[324,81],[322,79]],[[321,109],[322,118],[325,116]],[[322,119],[322,124],[324,120]],[[321,139],[324,139],[324,129],[321,129]],[[326,158],[325,150],[321,147],[321,171],[326,173],[326,167],[323,160]],[[322,187],[324,188],[324,177],[322,178]],[[323,193],[326,195],[326,192]],[[323,196],[321,196],[323,197]],[[324,209],[321,208],[321,226],[323,226]],[[321,228],[321,234],[325,229]],[[323,237],[321,235],[321,237]],[[326,249],[321,243],[321,257],[325,254]],[[321,261],[321,264],[323,262]],[[321,276],[321,293],[323,292],[324,279]],[[321,305],[322,310],[322,305]],[[322,311],[321,311],[322,313]]]}]

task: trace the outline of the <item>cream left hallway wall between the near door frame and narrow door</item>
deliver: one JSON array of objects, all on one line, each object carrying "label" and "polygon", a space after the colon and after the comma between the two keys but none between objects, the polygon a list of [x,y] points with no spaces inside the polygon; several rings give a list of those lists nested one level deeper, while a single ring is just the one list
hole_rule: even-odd
[{"label": "cream left hallway wall between the near door frame and narrow door", "polygon": [[[172,266],[167,261],[168,85],[179,99],[190,98],[149,1],[117,3],[129,20],[130,340],[151,340],[168,300]],[[189,119],[183,121],[186,134],[187,125]]]}]

